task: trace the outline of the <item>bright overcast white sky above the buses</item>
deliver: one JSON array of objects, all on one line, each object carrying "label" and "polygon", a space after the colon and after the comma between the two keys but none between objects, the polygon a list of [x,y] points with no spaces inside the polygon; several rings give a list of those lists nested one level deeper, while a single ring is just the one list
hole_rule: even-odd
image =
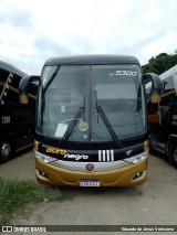
[{"label": "bright overcast white sky above the buses", "polygon": [[75,54],[126,54],[140,64],[177,50],[174,0],[0,0],[0,61],[29,74]]}]

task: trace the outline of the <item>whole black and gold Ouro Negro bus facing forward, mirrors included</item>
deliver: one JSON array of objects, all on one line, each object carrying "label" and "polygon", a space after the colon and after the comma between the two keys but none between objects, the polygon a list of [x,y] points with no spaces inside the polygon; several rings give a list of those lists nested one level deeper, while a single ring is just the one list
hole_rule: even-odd
[{"label": "whole black and gold Ouro Negro bus facing forward, mirrors included", "polygon": [[[28,85],[20,99],[28,104]],[[37,102],[35,173],[50,185],[129,186],[147,175],[148,138],[143,79],[134,56],[80,55],[46,61]]]}]

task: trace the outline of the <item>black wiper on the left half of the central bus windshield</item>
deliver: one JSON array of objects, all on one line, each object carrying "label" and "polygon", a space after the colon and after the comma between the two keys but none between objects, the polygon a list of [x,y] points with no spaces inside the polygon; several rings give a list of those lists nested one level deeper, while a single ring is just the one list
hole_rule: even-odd
[{"label": "black wiper on the left half of the central bus windshield", "polygon": [[84,107],[80,107],[80,109],[77,110],[77,113],[75,114],[73,120],[71,121],[71,124],[69,125],[64,136],[62,137],[62,140],[60,142],[60,147],[63,146],[64,141],[66,141],[69,139],[69,137],[71,136],[71,133],[73,132],[76,124],[79,122],[79,119],[81,118],[82,114],[84,113],[85,108]]}]

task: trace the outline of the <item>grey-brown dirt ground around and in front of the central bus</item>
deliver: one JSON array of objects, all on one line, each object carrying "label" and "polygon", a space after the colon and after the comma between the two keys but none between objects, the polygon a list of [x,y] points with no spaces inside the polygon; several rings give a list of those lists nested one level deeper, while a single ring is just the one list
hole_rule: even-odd
[{"label": "grey-brown dirt ground around and in front of the central bus", "polygon": [[[0,177],[35,180],[33,152],[24,153],[6,164],[1,164]],[[30,216],[18,217],[13,220],[12,224],[177,225],[177,170],[159,157],[149,156],[148,179],[140,186],[62,188],[61,190],[71,194],[71,200],[43,202],[31,209]],[[111,233],[61,232],[54,234],[86,235]],[[112,234],[129,233],[117,232]],[[133,232],[132,234],[136,233]],[[137,234],[140,233],[138,232]],[[144,232],[143,234],[150,233]],[[169,233],[160,232],[158,234]]]}]

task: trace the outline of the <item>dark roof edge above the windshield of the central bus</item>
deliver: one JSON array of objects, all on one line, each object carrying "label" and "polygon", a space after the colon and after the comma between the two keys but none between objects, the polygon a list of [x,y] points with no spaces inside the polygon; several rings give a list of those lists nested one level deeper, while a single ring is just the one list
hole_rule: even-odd
[{"label": "dark roof edge above the windshield of the central bus", "polygon": [[131,55],[73,55],[64,57],[50,58],[44,65],[73,65],[73,64],[139,64],[138,60]]}]

